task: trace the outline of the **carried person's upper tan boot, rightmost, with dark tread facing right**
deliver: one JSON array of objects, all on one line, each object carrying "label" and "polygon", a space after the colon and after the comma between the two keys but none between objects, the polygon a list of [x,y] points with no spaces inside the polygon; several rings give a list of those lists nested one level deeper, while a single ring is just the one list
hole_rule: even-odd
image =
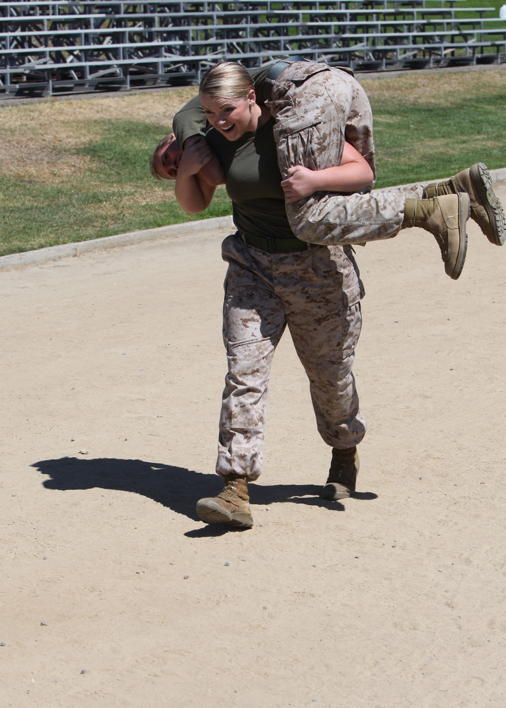
[{"label": "carried person's upper tan boot, rightmost, with dark tread facing right", "polygon": [[443,182],[432,182],[424,197],[466,192],[471,200],[471,219],[476,221],[490,243],[502,246],[506,240],[506,217],[492,187],[487,166],[478,162]]}]

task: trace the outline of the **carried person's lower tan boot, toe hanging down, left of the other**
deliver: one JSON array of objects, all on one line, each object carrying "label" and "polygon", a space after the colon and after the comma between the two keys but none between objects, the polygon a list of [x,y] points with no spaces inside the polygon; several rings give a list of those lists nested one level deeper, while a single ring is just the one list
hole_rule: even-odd
[{"label": "carried person's lower tan boot, toe hanging down, left of the other", "polygon": [[430,232],[441,249],[446,275],[456,280],[466,260],[466,222],[469,195],[449,194],[434,199],[407,199],[401,228],[420,227]]}]

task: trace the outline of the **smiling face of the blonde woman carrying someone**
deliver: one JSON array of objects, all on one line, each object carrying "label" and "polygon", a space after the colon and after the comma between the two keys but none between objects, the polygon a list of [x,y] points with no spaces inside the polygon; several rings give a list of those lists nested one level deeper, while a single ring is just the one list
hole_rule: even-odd
[{"label": "smiling face of the blonde woman carrying someone", "polygon": [[200,94],[201,105],[210,124],[227,140],[238,140],[245,132],[257,130],[258,113],[255,93],[249,91],[248,98],[214,98],[207,93]]}]

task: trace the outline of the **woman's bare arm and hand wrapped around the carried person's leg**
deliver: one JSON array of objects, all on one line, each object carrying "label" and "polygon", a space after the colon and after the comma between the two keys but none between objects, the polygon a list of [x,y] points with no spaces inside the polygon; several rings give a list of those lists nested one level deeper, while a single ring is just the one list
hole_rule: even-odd
[{"label": "woman's bare arm and hand wrapped around the carried person's leg", "polygon": [[286,201],[291,203],[315,192],[359,192],[373,181],[369,163],[345,142],[339,166],[323,170],[310,170],[302,165],[289,167],[288,178],[281,182],[281,187]]}]

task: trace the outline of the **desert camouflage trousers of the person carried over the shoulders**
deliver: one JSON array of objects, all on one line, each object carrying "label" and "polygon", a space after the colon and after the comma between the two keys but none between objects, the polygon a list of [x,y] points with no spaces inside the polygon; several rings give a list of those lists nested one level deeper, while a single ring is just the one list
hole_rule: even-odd
[{"label": "desert camouflage trousers of the person carried over the shoulders", "polygon": [[[371,105],[356,79],[342,69],[292,62],[279,74],[266,101],[276,119],[278,164],[320,170],[339,165],[344,141],[364,156],[376,178]],[[369,194],[317,192],[286,203],[291,229],[313,244],[364,244],[398,234],[407,196],[422,198],[423,187]]]}]

